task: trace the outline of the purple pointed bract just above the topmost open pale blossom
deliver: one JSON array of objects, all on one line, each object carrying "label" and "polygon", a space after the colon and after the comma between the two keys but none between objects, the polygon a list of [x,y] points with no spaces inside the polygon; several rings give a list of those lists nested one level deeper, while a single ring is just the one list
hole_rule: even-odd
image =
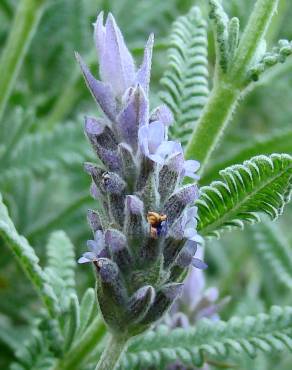
[{"label": "purple pointed bract just above the topmost open pale blossom", "polygon": [[138,129],[147,124],[148,100],[141,86],[132,92],[126,107],[117,118],[117,128],[126,143],[137,150]]}]

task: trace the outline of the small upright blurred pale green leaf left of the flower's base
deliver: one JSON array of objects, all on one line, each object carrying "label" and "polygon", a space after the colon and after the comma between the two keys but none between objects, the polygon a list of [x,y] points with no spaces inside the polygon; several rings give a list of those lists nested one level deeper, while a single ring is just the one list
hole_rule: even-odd
[{"label": "small upright blurred pale green leaf left of the flower's base", "polygon": [[52,233],[47,245],[47,255],[48,267],[45,271],[63,310],[66,310],[70,294],[75,293],[76,261],[74,246],[64,231]]}]

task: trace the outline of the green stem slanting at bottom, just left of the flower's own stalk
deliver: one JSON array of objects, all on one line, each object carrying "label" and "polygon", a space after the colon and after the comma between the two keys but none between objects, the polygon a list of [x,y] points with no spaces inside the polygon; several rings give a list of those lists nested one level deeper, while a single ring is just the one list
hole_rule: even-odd
[{"label": "green stem slanting at bottom, just left of the flower's own stalk", "polygon": [[59,361],[54,370],[79,370],[80,364],[96,348],[106,333],[106,328],[100,318],[96,318],[77,341]]}]

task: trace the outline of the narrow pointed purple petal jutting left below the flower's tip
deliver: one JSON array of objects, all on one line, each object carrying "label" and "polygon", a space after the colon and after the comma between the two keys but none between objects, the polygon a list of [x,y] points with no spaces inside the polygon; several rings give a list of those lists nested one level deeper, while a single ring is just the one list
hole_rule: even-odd
[{"label": "narrow pointed purple petal jutting left below the flower's tip", "polygon": [[87,65],[82,60],[78,53],[75,53],[76,59],[81,67],[85,82],[103,112],[111,119],[114,120],[116,116],[116,101],[114,99],[112,90],[109,85],[104,84],[101,81],[96,80]]}]

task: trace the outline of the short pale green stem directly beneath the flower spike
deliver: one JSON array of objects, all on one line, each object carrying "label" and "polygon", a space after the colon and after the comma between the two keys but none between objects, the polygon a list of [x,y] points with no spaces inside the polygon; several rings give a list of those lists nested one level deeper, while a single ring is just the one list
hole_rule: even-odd
[{"label": "short pale green stem directly beneath the flower spike", "polygon": [[114,336],[109,338],[107,346],[95,370],[114,370],[117,368],[119,359],[126,349],[128,337]]}]

